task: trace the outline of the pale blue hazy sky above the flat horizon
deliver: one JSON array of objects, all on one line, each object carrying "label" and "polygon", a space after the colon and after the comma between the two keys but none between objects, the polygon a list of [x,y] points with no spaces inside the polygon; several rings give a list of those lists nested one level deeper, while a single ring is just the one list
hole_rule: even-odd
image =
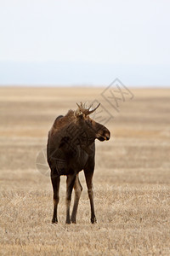
[{"label": "pale blue hazy sky above the flat horizon", "polygon": [[5,0],[0,84],[170,85],[170,2]]}]

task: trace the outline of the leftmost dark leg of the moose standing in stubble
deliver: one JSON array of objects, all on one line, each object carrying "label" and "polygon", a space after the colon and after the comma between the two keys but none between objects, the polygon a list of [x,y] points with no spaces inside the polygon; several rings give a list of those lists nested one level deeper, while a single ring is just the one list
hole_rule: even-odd
[{"label": "leftmost dark leg of the moose standing in stubble", "polygon": [[53,189],[54,189],[54,215],[52,218],[52,223],[58,223],[58,218],[57,218],[57,207],[59,204],[59,182],[60,182],[60,177],[53,177],[51,176],[51,181],[53,184]]}]

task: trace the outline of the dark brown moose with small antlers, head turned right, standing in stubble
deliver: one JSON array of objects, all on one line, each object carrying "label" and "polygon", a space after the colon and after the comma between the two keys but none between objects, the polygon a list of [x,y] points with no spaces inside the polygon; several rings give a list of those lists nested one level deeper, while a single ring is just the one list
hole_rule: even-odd
[{"label": "dark brown moose with small antlers, head turned right, standing in stubble", "polygon": [[[100,103],[99,103],[100,105]],[[54,190],[54,214],[52,223],[58,223],[57,208],[59,204],[60,176],[66,176],[66,224],[77,223],[77,207],[82,193],[78,173],[84,171],[88,197],[91,207],[91,223],[96,222],[94,213],[94,157],[95,139],[107,141],[111,132],[89,117],[89,114],[99,108],[99,105],[86,108],[82,102],[77,104],[77,110],[59,115],[48,132],[47,157],[51,169],[51,182]],[[70,216],[71,193],[75,190],[74,205]]]}]

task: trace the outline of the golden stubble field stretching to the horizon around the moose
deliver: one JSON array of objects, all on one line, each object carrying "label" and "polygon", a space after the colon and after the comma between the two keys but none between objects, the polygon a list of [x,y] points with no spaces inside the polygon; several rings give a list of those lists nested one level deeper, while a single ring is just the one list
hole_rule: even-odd
[{"label": "golden stubble field stretching to the horizon around the moose", "polygon": [[76,102],[102,88],[0,88],[1,255],[170,255],[170,90],[131,89],[133,101],[107,123],[96,143],[97,224],[90,224],[83,177],[77,224],[65,224],[65,177],[59,224],[51,224],[50,178],[36,168],[48,130]]}]

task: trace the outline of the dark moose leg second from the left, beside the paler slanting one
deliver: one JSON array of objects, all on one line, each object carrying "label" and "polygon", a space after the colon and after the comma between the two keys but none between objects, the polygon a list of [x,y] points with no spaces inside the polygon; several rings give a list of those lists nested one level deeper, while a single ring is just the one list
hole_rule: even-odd
[{"label": "dark moose leg second from the left, beside the paler slanting one", "polygon": [[66,179],[66,224],[71,224],[70,208],[71,208],[71,193],[76,180],[76,175],[67,175]]}]

